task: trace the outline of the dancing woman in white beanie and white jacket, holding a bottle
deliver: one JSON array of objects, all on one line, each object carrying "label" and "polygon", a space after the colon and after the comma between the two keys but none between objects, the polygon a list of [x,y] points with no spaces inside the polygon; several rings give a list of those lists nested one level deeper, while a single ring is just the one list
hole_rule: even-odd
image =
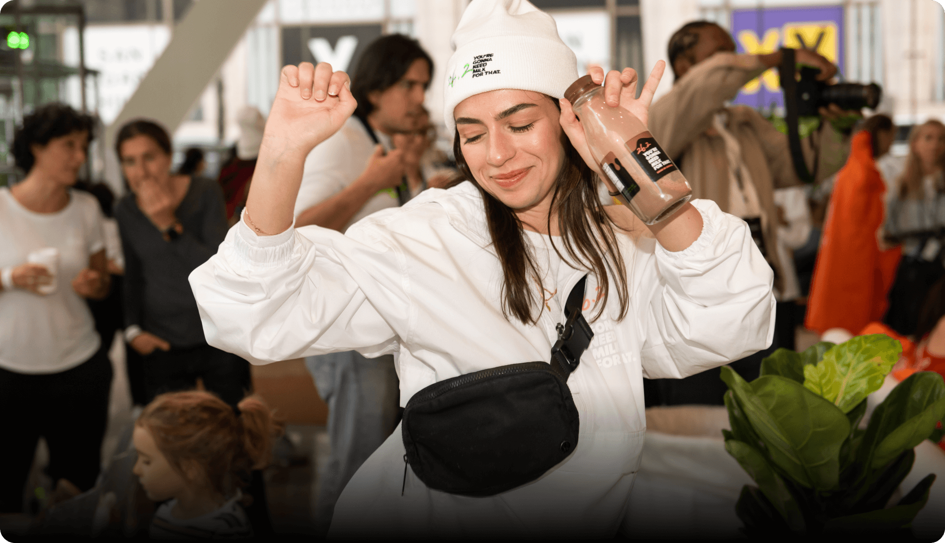
[{"label": "dancing woman in white beanie and white jacket, holding a bottle", "polygon": [[[434,382],[550,360],[564,298],[590,272],[584,315],[596,335],[568,382],[581,430],[571,456],[531,484],[469,498],[422,484],[395,431],[345,488],[330,536],[612,536],[643,446],[643,377],[765,348],[772,274],[745,223],[711,202],[649,229],[600,205],[583,130],[546,94],[577,76],[550,16],[474,0],[454,41],[444,113],[466,180],[345,234],[296,230],[292,211],[305,156],[354,110],[347,76],[326,63],[283,68],[246,211],[191,275],[204,330],[257,364],[396,352],[405,405]],[[487,54],[493,64],[476,73],[488,75],[461,77]],[[662,68],[640,99],[632,70],[611,72],[610,105],[645,122]]]}]

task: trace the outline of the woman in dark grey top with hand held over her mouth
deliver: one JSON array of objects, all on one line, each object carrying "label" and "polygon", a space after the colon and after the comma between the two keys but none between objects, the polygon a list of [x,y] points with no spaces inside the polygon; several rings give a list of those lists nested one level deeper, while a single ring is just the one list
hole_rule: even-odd
[{"label": "woman in dark grey top with hand held over her mouth", "polygon": [[226,233],[219,185],[171,175],[170,138],[150,121],[122,127],[115,151],[131,189],[115,208],[125,249],[125,336],[146,357],[146,403],[200,378],[235,405],[251,387],[249,363],[207,345],[187,288],[187,276]]}]

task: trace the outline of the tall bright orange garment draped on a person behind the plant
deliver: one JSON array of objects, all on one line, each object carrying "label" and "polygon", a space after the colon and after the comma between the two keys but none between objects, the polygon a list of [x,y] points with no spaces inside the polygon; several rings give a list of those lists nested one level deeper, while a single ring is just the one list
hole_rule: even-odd
[{"label": "tall bright orange garment draped on a person behind the plant", "polygon": [[808,330],[855,333],[883,318],[901,250],[881,251],[885,184],[873,163],[869,132],[853,136],[850,159],[837,173],[807,301]]}]

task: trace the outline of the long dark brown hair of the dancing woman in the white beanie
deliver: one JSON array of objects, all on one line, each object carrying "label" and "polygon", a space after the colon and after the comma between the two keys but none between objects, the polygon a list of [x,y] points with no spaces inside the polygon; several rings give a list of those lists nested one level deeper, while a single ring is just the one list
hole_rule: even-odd
[{"label": "long dark brown hair of the dancing woman in the white beanie", "polygon": [[[558,100],[550,97],[548,99],[558,106]],[[558,229],[567,258],[558,250],[554,238],[552,246],[561,260],[572,263],[574,267],[587,268],[597,279],[597,313],[593,315],[592,320],[598,318],[607,305],[607,299],[610,297],[610,276],[613,277],[617,283],[616,295],[620,300],[618,320],[622,320],[629,307],[629,291],[627,266],[614,234],[614,229],[619,227],[600,203],[596,190],[597,176],[563,131],[561,144],[564,146],[564,163],[558,172],[558,178],[555,179],[548,228],[551,227],[552,213],[558,213]],[[472,171],[463,157],[458,130],[454,137],[453,151],[456,167],[462,174],[462,178],[455,179],[454,183],[471,181],[479,189],[486,206],[486,221],[489,223],[492,246],[499,262],[502,263],[502,313],[507,319],[514,316],[523,324],[535,324],[541,315],[542,307],[541,299],[536,293],[543,292],[544,285],[532,251],[525,242],[522,221],[511,208],[483,189],[472,176]],[[537,289],[529,288],[531,280],[537,283]],[[534,313],[536,308],[539,310],[537,314]]]}]

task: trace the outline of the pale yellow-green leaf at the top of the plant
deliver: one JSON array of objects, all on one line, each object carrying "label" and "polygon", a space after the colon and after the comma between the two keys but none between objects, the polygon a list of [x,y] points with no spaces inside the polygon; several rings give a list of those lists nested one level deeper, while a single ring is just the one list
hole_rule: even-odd
[{"label": "pale yellow-green leaf at the top of the plant", "polygon": [[854,337],[827,350],[817,365],[805,365],[804,387],[849,413],[883,386],[901,352],[902,344],[883,333]]}]

